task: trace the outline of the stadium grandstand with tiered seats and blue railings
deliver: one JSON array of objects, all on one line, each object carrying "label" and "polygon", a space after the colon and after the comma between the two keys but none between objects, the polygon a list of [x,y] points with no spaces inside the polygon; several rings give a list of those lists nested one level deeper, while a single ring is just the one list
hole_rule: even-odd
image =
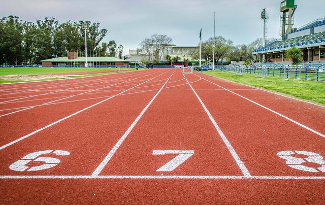
[{"label": "stadium grandstand with tiered seats and blue railings", "polygon": [[[297,5],[294,5],[293,8],[295,10]],[[285,9],[287,8],[283,9],[281,5],[281,12],[285,11]],[[294,14],[294,10],[292,15]],[[292,29],[290,27],[292,24],[288,26],[288,17],[285,13],[282,19],[286,23],[283,25],[282,39],[275,40],[262,48],[254,50],[253,55],[255,55],[257,61],[262,62],[262,56],[265,55],[266,63],[289,63],[290,59],[285,57],[285,51],[289,48],[296,47],[302,51],[301,59],[303,63],[324,63],[325,18],[316,19],[300,28]]]}]

